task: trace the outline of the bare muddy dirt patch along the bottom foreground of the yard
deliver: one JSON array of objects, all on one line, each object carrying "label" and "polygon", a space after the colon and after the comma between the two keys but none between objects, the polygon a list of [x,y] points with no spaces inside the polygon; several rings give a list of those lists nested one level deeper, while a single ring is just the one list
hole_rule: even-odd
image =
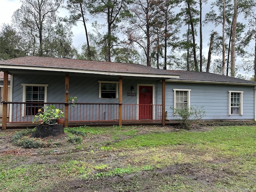
[{"label": "bare muddy dirt patch along the bottom foreground of the yard", "polygon": [[[223,175],[218,172],[209,174],[208,171],[198,170],[190,164],[174,165],[164,169],[126,174],[125,176],[112,176],[100,180],[72,180],[66,183],[68,190],[62,190],[62,192],[156,192],[162,191],[162,186],[167,184],[175,186],[179,180],[179,178],[175,178],[177,174],[205,186],[205,189],[201,188],[198,191],[208,191],[207,189],[214,185],[214,180]],[[180,183],[186,184],[186,180],[180,180]],[[55,189],[59,189],[59,187],[56,186]]]}]

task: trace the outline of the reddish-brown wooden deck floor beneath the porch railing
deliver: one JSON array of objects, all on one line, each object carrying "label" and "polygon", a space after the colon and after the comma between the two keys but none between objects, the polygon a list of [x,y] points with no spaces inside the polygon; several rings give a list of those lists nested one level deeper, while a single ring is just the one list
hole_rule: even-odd
[{"label": "reddish-brown wooden deck floor beneath the porch railing", "polygon": [[[174,126],[177,125],[178,122],[176,120],[169,120],[166,121],[167,126]],[[7,123],[7,129],[26,129],[26,128],[34,128],[37,124],[33,124],[31,122],[18,122],[18,123]],[[82,121],[82,122],[68,122],[68,126],[75,127],[75,126],[113,126],[118,125],[118,120],[114,121]],[[161,120],[123,120],[122,125],[155,125],[161,126]],[[2,129],[2,124],[0,124],[0,129]]]}]

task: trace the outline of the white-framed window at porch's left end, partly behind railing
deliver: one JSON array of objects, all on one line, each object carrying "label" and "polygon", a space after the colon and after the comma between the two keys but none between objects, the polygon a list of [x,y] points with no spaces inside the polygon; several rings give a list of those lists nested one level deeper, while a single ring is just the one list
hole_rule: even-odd
[{"label": "white-framed window at porch's left end, partly behind railing", "polygon": [[[31,104],[23,105],[23,116],[35,115],[38,113],[38,109],[44,105],[40,103],[46,102],[46,84],[22,84],[23,86],[23,102]],[[33,103],[33,104],[32,104]]]}]

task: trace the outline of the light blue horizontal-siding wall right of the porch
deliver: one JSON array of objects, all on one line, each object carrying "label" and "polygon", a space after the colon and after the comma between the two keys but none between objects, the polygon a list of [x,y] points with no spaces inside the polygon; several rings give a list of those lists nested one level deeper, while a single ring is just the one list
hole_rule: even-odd
[{"label": "light blue horizontal-siding wall right of the porch", "polygon": [[[160,84],[160,83],[158,83]],[[206,112],[204,120],[248,120],[254,119],[254,86],[237,86],[226,84],[196,84],[166,82],[166,111],[169,119],[176,119],[173,110],[173,89],[189,89],[190,106],[201,107]],[[243,91],[243,114],[229,115],[228,91]],[[158,86],[158,103],[161,103],[162,89]]]}]

